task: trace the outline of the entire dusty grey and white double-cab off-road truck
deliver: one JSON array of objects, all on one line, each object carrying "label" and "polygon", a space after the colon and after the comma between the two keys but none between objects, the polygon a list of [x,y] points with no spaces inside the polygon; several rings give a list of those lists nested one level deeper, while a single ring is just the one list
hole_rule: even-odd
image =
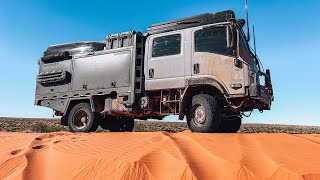
[{"label": "entire dusty grey and white double-cab off-road truck", "polygon": [[132,131],[135,118],[169,115],[186,116],[194,132],[236,132],[244,112],[270,110],[273,101],[270,71],[261,71],[244,23],[223,11],[50,46],[35,104],[73,132]]}]

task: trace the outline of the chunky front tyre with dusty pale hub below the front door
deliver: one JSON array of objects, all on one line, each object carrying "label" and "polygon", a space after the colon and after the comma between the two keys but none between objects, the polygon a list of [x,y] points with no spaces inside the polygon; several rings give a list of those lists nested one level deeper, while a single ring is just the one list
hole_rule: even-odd
[{"label": "chunky front tyre with dusty pale hub below the front door", "polygon": [[193,96],[187,110],[187,123],[192,132],[220,132],[221,113],[217,98],[206,94]]}]

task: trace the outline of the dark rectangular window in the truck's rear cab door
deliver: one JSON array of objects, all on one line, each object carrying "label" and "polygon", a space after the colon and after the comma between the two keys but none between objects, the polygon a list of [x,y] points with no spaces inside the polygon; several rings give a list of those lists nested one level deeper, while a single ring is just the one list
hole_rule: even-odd
[{"label": "dark rectangular window in the truck's rear cab door", "polygon": [[170,56],[181,53],[181,35],[174,34],[154,38],[152,57]]}]

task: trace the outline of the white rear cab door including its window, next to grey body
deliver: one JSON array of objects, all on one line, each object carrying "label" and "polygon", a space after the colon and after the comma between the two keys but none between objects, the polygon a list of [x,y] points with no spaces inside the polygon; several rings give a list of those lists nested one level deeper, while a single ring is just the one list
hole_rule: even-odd
[{"label": "white rear cab door including its window, next to grey body", "polygon": [[185,87],[183,31],[149,36],[146,43],[146,90]]}]

